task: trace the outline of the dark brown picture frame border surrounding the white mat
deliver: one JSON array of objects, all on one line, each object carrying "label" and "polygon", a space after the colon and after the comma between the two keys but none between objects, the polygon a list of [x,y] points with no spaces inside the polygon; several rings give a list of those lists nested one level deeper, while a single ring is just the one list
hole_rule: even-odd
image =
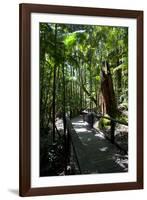
[{"label": "dark brown picture frame border surrounding the white mat", "polygon": [[[143,188],[143,11],[20,4],[20,196],[57,195]],[[137,20],[137,181],[31,188],[31,13],[130,18]]]}]

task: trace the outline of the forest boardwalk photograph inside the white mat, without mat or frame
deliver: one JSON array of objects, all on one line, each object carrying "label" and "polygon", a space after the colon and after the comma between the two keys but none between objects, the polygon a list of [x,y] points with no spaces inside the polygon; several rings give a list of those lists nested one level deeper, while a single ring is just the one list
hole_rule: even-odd
[{"label": "forest boardwalk photograph inside the white mat, without mat or frame", "polygon": [[128,28],[39,26],[40,176],[128,172]]}]

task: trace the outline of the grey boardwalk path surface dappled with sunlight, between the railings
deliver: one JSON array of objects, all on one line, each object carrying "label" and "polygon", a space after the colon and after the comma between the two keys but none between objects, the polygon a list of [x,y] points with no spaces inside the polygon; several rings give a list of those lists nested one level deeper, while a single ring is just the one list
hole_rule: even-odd
[{"label": "grey boardwalk path surface dappled with sunlight, between the railings", "polygon": [[128,171],[128,155],[106,139],[100,130],[90,128],[81,116],[72,119],[75,145],[82,174]]}]

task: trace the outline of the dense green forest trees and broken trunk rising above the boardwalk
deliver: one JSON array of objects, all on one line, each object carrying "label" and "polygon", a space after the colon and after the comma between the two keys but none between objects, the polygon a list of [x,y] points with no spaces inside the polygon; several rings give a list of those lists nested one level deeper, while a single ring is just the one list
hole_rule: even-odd
[{"label": "dense green forest trees and broken trunk rising above the boardwalk", "polygon": [[40,127],[64,109],[119,118],[118,108],[128,108],[128,28],[40,23]]}]

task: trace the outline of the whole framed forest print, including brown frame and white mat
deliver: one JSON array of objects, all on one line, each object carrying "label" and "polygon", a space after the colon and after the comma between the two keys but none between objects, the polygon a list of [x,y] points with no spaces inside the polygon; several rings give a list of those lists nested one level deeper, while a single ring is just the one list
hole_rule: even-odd
[{"label": "whole framed forest print, including brown frame and white mat", "polygon": [[20,195],[143,188],[143,11],[20,4]]}]

